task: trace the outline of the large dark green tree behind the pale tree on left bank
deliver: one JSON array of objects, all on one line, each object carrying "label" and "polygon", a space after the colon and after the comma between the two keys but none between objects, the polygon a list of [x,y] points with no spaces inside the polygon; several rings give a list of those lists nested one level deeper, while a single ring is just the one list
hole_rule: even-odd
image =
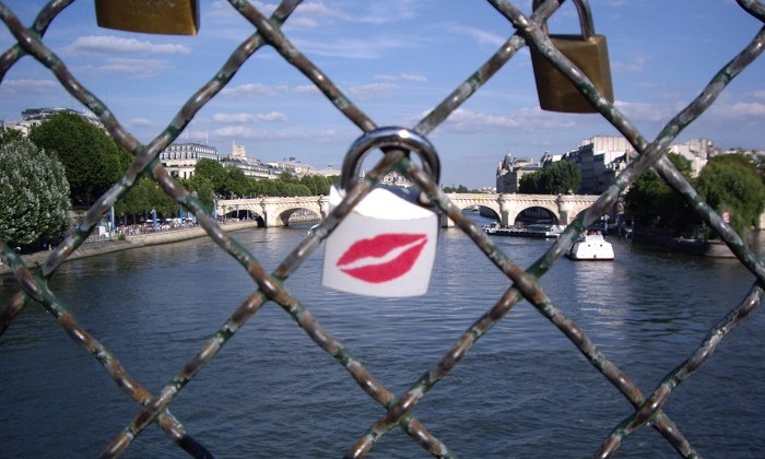
[{"label": "large dark green tree behind the pale tree on left bank", "polygon": [[30,140],[63,164],[75,205],[90,205],[119,179],[132,158],[106,131],[71,113],[43,121]]}]

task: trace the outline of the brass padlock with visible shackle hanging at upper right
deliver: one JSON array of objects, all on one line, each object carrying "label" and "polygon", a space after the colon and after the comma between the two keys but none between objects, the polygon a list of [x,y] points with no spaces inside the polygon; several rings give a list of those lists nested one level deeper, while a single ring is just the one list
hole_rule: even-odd
[{"label": "brass padlock with visible shackle hanging at upper right", "polygon": [[[611,63],[604,35],[596,35],[587,0],[573,0],[579,12],[581,35],[550,35],[553,45],[590,79],[598,91],[613,103]],[[533,1],[537,10],[542,0]],[[546,23],[544,24],[546,32]],[[586,114],[597,111],[577,87],[548,59],[531,48],[539,105],[543,110]]]}]

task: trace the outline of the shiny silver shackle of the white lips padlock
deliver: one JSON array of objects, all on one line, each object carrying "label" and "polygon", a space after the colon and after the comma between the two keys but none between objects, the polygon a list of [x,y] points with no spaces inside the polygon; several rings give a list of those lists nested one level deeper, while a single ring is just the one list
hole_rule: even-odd
[{"label": "shiny silver shackle of the white lips padlock", "polygon": [[[384,127],[366,132],[351,145],[345,157],[340,176],[340,186],[344,190],[351,189],[358,181],[358,174],[366,154],[373,149],[398,148],[405,152],[420,155],[423,169],[431,175],[433,181],[438,184],[440,179],[440,160],[433,144],[412,129],[399,127]],[[385,150],[384,150],[385,151]]]}]

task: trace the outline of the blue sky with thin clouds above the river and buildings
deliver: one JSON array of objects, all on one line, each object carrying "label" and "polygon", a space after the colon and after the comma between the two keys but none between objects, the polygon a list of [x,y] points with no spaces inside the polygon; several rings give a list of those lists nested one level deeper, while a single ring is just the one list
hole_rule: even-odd
[{"label": "blue sky with thin clouds above the river and buildings", "polygon": [[[275,2],[252,2],[270,14]],[[530,13],[531,1],[515,2]],[[573,4],[550,22],[553,33],[578,27]],[[7,0],[25,24],[45,4]],[[201,0],[197,36],[134,34],[96,26],[94,2],[79,0],[51,24],[45,43],[75,78],[139,140],[153,139],[210,80],[252,26],[225,1]],[[652,139],[757,33],[762,23],[733,0],[590,0],[598,33],[608,37],[617,107]],[[467,0],[307,1],[283,27],[287,37],[378,126],[413,127],[470,76],[514,33],[491,4]],[[13,44],[7,28],[0,47]],[[82,109],[49,70],[30,57],[0,85],[0,119],[21,110]],[[714,108],[679,142],[711,139],[723,149],[765,150],[765,61],[734,80]],[[361,134],[310,82],[263,48],[195,118],[180,140],[249,156],[295,156],[340,167]],[[528,49],[508,62],[428,138],[442,160],[444,185],[494,185],[508,152],[539,158],[564,153],[592,136],[616,134],[598,115],[539,108]],[[369,157],[364,166],[370,166]]]}]

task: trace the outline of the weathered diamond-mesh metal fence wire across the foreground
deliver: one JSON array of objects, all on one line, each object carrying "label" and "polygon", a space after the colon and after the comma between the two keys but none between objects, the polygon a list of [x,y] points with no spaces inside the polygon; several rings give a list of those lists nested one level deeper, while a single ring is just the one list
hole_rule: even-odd
[{"label": "weathered diamond-mesh metal fence wire across the foreground", "polygon": [[[635,411],[631,416],[615,422],[613,431],[603,440],[596,454],[597,456],[612,456],[626,436],[646,426],[651,426],[659,431],[680,455],[686,457],[697,456],[697,451],[663,410],[664,404],[670,400],[672,391],[704,365],[710,358],[713,351],[720,341],[760,305],[764,294],[763,289],[765,287],[765,266],[746,247],[737,233],[723,222],[720,215],[704,202],[696,190],[668,161],[664,151],[686,126],[713,105],[731,80],[760,56],[765,47],[765,27],[756,32],[751,43],[740,54],[733,56],[711,78],[708,85],[702,89],[701,94],[687,107],[678,113],[656,139],[648,141],[638,132],[629,119],[613,104],[609,103],[595,85],[580,72],[576,71],[572,62],[552,46],[549,36],[540,24],[555,12],[562,0],[544,1],[531,15],[523,14],[509,1],[489,0],[498,14],[502,14],[513,24],[516,33],[483,66],[466,79],[451,94],[446,95],[434,110],[429,111],[411,129],[422,136],[427,136],[444,122],[460,104],[478,92],[519,49],[529,45],[539,50],[577,85],[600,115],[629,141],[639,153],[638,156],[610,184],[608,190],[598,198],[592,207],[581,212],[568,225],[565,233],[540,259],[530,268],[523,270],[493,244],[475,223],[462,215],[460,210],[439,190],[431,175],[409,160],[408,151],[404,151],[403,148],[389,148],[386,149],[385,155],[372,172],[364,179],[360,180],[356,186],[348,190],[342,203],[334,208],[322,221],[319,229],[306,236],[284,258],[281,264],[273,272],[269,273],[258,262],[255,254],[245,249],[233,237],[224,233],[216,221],[203,210],[200,202],[169,176],[157,161],[160,152],[188,127],[195,115],[226,86],[234,73],[254,54],[267,46],[275,49],[292,66],[292,69],[306,75],[323,93],[329,103],[334,105],[348,120],[356,125],[362,131],[367,133],[374,132],[378,129],[378,126],[332,82],[330,75],[322,72],[321,69],[303,55],[282,31],[282,25],[289,20],[295,8],[301,4],[299,0],[282,1],[270,17],[264,16],[252,3],[246,0],[228,0],[228,2],[242,16],[252,24],[255,28],[252,35],[242,42],[231,54],[224,66],[188,98],[188,102],[178,110],[173,121],[154,140],[146,144],[133,138],[113,116],[108,107],[95,94],[92,94],[84,87],[67,64],[46,46],[44,42],[46,30],[51,21],[71,3],[71,0],[50,1],[39,11],[35,22],[30,26],[23,25],[14,12],[4,2],[0,2],[0,16],[17,40],[0,58],[0,81],[8,70],[23,57],[30,56],[36,59],[54,73],[60,84],[73,97],[101,119],[109,134],[119,144],[134,155],[134,160],[125,176],[90,208],[83,223],[50,252],[45,263],[35,272],[23,262],[11,247],[0,242],[2,258],[12,267],[14,276],[21,285],[20,291],[9,304],[4,305],[0,313],[0,333],[8,329],[14,317],[19,315],[25,305],[31,302],[43,304],[69,336],[104,366],[119,389],[140,405],[140,412],[122,432],[119,432],[114,437],[106,449],[104,449],[103,456],[116,456],[123,452],[131,442],[152,423],[160,426],[178,447],[189,455],[197,457],[212,456],[202,446],[201,439],[195,438],[185,432],[180,420],[174,417],[169,413],[168,408],[176,396],[184,390],[186,385],[197,376],[204,365],[223,350],[226,342],[261,306],[269,302],[274,302],[285,313],[291,315],[317,346],[331,355],[338,364],[342,365],[355,382],[374,401],[386,409],[385,415],[374,420],[368,428],[360,433],[361,436],[350,445],[348,450],[349,457],[365,456],[375,446],[376,442],[396,426],[401,427],[413,442],[417,443],[429,454],[438,457],[454,456],[456,452],[452,452],[447,446],[448,439],[436,438],[427,431],[425,425],[417,421],[415,408],[437,381],[449,375],[449,372],[460,363],[466,353],[478,343],[481,337],[487,333],[495,323],[503,320],[507,313],[522,299],[531,303],[540,314],[546,317],[553,326],[557,327],[587,361],[634,405]],[[761,22],[765,22],[765,7],[763,3],[756,0],[737,0],[737,2],[749,14]],[[600,215],[603,215],[616,202],[620,193],[650,167],[675,192],[682,195],[693,209],[696,209],[704,222],[719,234],[740,262],[754,274],[755,282],[746,292],[744,299],[734,305],[730,313],[709,330],[695,352],[667,374],[656,389],[644,393],[626,374],[609,361],[577,323],[567,318],[566,314],[555,306],[555,302],[545,294],[538,283],[538,279],[543,276],[562,258],[565,249],[572,245],[580,232],[596,222]],[[284,281],[290,278],[325,238],[332,234],[338,224],[369,193],[380,178],[391,170],[398,170],[411,179],[435,205],[446,213],[475,243],[476,250],[483,251],[513,283],[511,287],[493,306],[481,317],[478,317],[469,329],[464,330],[451,349],[447,350],[438,362],[435,362],[416,381],[412,382],[407,392],[400,395],[392,393],[377,381],[363,363],[356,360],[350,351],[332,337],[330,330],[322,329],[314,320],[308,305],[293,297],[284,286]],[[61,298],[48,289],[48,280],[61,263],[91,234],[94,226],[98,224],[109,208],[122,198],[136,184],[139,176],[144,173],[151,174],[167,195],[191,210],[209,237],[222,250],[234,257],[258,286],[244,303],[232,311],[223,326],[217,330],[211,330],[211,336],[202,343],[199,351],[189,357],[183,368],[172,376],[170,380],[158,393],[150,392],[131,377],[109,350],[98,341],[98,338],[80,326]]]}]

